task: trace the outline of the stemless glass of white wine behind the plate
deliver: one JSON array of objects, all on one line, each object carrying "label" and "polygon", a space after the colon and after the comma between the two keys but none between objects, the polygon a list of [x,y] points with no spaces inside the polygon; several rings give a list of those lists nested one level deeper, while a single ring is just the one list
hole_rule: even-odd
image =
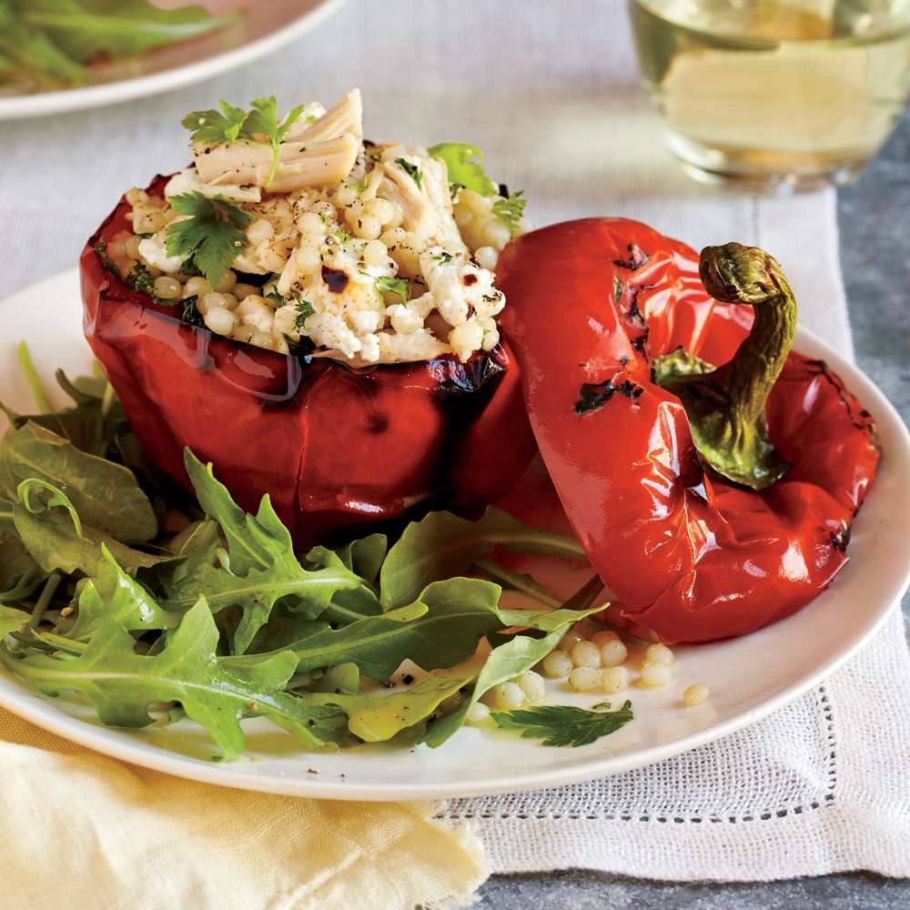
[{"label": "stemless glass of white wine behind the plate", "polygon": [[693,177],[848,183],[910,94],[910,0],[629,0],[642,76]]}]

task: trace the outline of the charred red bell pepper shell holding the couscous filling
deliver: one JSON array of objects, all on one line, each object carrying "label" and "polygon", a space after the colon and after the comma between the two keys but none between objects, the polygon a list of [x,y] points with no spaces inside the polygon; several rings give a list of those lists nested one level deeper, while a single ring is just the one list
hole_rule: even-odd
[{"label": "charred red bell pepper shell holding the couscous filling", "polygon": [[106,268],[99,241],[131,229],[129,211],[122,199],[82,253],[86,339],[147,458],[184,485],[189,446],[248,511],[268,492],[302,548],[421,509],[470,515],[531,460],[505,343],[463,364],[354,370],[218,338]]}]

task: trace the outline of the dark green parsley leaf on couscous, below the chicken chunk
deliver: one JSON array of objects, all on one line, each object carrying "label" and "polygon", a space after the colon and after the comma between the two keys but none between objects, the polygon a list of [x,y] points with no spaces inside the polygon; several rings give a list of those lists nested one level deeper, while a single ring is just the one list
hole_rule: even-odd
[{"label": "dark green parsley leaf on couscous, below the chicken chunk", "polygon": [[167,255],[191,256],[207,282],[215,287],[238,252],[246,248],[247,235],[240,228],[247,227],[252,216],[223,198],[209,199],[198,190],[172,196],[168,201],[188,217],[167,226]]}]

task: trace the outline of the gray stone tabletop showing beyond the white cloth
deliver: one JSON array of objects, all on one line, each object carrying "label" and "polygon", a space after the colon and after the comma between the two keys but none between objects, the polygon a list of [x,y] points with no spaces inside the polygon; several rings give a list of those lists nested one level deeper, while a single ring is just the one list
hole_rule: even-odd
[{"label": "gray stone tabletop showing beyond the white cloth", "polygon": [[[882,154],[840,193],[841,261],[856,359],[910,423],[910,111]],[[910,596],[904,601],[910,625]],[[910,907],[910,881],[825,875],[770,884],[647,882],[569,871],[497,875],[483,886],[495,910],[885,910]]]}]

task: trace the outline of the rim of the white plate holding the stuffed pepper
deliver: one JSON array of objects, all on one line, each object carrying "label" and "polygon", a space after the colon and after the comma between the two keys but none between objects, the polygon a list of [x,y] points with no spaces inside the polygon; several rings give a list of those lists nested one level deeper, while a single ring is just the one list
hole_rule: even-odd
[{"label": "rim of the white plate holding the stuffed pepper", "polygon": [[[28,298],[45,295],[55,298],[61,293],[76,293],[76,269],[63,272],[54,278],[46,278],[29,288],[16,292],[9,298],[0,302],[0,308],[15,307],[25,304]],[[904,461],[908,466],[907,481],[910,484],[910,431],[895,410],[891,402],[885,398],[860,369],[844,359],[834,349],[814,333],[797,329],[796,347],[809,349],[806,351],[811,356],[821,356],[845,380],[851,391],[863,401],[864,407],[870,410],[882,432],[890,438],[890,448],[887,450],[889,460]],[[863,513],[860,518],[862,520]],[[910,518],[905,517],[905,523],[910,529]],[[0,686],[0,707],[18,714],[25,720],[35,723],[50,733],[56,733],[74,743],[84,745],[96,752],[105,753],[122,761],[140,765],[154,771],[174,774],[178,777],[196,780],[204,784],[235,787],[243,790],[252,790],[260,793],[285,794],[297,796],[310,796],[323,799],[340,800],[366,800],[366,801],[395,801],[414,799],[449,799],[459,796],[481,796],[490,794],[515,793],[519,791],[538,790],[544,787],[561,784],[573,784],[582,780],[591,780],[611,774],[630,771],[648,764],[672,758],[683,752],[688,752],[698,746],[721,739],[730,733],[735,733],[743,727],[756,723],[763,717],[793,702],[804,693],[808,692],[824,678],[838,669],[849,660],[854,653],[859,651],[885,623],[893,610],[899,607],[901,599],[910,587],[910,558],[908,558],[900,571],[895,574],[890,584],[889,594],[869,616],[869,622],[861,633],[854,636],[843,647],[834,650],[830,657],[814,668],[812,672],[794,682],[783,691],[774,694],[753,708],[715,723],[701,731],[689,733],[679,739],[668,743],[650,746],[628,753],[610,755],[602,758],[581,761],[570,767],[560,766],[552,769],[536,770],[531,773],[516,773],[491,777],[487,780],[474,780],[470,783],[451,781],[446,784],[354,784],[332,782],[313,778],[282,778],[280,776],[259,777],[249,773],[235,772],[229,764],[204,763],[196,759],[187,758],[177,753],[170,753],[164,749],[150,751],[147,744],[133,742],[128,733],[116,728],[96,727],[85,721],[79,720],[56,708],[53,702],[48,702],[41,696],[29,692],[24,686],[15,682],[15,678],[5,672],[0,674],[0,680],[12,680],[15,690],[7,690]],[[785,620],[782,622],[786,622]],[[710,647],[710,644],[707,645]]]}]

